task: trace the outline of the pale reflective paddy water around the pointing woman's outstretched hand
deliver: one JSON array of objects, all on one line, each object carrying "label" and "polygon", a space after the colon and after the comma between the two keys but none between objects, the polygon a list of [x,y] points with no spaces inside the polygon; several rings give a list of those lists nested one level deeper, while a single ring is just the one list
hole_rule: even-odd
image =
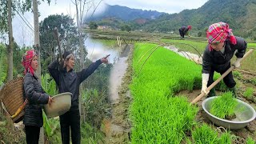
[{"label": "pale reflective paddy water around the pointing woman's outstretched hand", "polygon": [[85,41],[86,50],[88,51],[87,58],[95,62],[99,58],[110,54],[109,62],[114,64],[110,71],[109,90],[110,101],[117,102],[118,87],[121,86],[123,75],[126,73],[128,66],[126,60],[130,53],[130,46],[123,44],[118,46],[113,40],[100,40],[87,38]]}]

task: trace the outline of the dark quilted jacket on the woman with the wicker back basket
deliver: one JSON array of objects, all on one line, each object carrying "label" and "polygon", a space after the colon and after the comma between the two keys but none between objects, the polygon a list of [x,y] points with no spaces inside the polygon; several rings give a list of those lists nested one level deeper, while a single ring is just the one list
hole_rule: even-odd
[{"label": "dark quilted jacket on the woman with the wicker back basket", "polygon": [[42,89],[38,78],[29,72],[24,77],[23,86],[24,98],[28,99],[23,123],[25,126],[42,127],[42,104],[48,103],[49,95]]}]

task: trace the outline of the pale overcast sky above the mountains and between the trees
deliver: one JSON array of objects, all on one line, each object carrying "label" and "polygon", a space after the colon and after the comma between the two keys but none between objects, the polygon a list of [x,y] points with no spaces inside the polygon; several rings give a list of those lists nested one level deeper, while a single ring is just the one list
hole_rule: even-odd
[{"label": "pale overcast sky above the mountains and between the trees", "polygon": [[[42,2],[38,6],[38,10],[41,14],[39,17],[39,22],[41,22],[44,18],[47,18],[50,14],[69,14],[72,18],[75,19],[75,7],[72,1],[74,0],[51,0],[50,6],[46,2]],[[96,0],[95,6],[98,4],[100,0]],[[107,3],[109,5],[119,5],[119,6],[127,6],[134,9],[142,9],[142,10],[157,10],[159,12],[166,12],[169,14],[179,13],[185,9],[196,9],[202,6],[207,0],[104,0],[101,2],[101,5],[98,6],[96,13],[100,13],[104,10],[104,4]],[[26,46],[31,46],[34,44],[34,23],[33,23],[33,14],[31,12],[27,12],[24,14],[23,22],[22,18],[15,16],[13,20],[13,31],[14,31],[14,39],[18,43],[19,46],[25,44]],[[29,26],[31,25],[31,29]],[[1,41],[8,42],[8,41]]]}]

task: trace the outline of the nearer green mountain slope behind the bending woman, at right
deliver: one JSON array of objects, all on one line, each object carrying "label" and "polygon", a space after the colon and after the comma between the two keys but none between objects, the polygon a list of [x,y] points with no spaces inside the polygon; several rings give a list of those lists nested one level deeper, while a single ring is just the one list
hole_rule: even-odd
[{"label": "nearer green mountain slope behind the bending woman, at right", "polygon": [[192,30],[205,30],[215,22],[226,22],[234,34],[256,39],[256,0],[209,0],[194,10],[179,14],[162,14],[143,26],[143,30],[166,32],[191,25]]}]

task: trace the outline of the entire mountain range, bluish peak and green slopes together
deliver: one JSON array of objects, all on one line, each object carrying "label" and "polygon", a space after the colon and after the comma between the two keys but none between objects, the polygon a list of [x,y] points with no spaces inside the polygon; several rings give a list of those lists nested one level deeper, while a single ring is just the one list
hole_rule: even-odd
[{"label": "entire mountain range, bluish peak and green slopes together", "polygon": [[178,14],[108,5],[106,11],[93,20],[102,25],[120,27],[126,24],[132,30],[164,33],[178,33],[181,26],[188,25],[194,32],[203,32],[212,23],[226,22],[235,35],[256,40],[256,0],[208,0],[198,9],[182,10]]}]

